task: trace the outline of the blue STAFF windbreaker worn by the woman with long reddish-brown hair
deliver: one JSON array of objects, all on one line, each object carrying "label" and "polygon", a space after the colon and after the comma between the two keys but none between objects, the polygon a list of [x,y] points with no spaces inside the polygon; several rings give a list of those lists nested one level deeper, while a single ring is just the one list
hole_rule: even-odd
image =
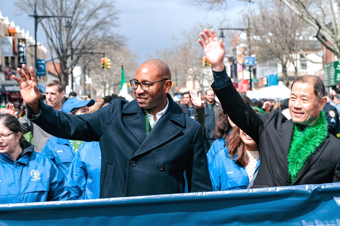
[{"label": "blue STAFF windbreaker worn by the woman with long reddish-brown hair", "polygon": [[[258,159],[255,172],[260,165]],[[249,177],[245,167],[239,166],[228,154],[228,148],[220,150],[209,165],[213,191],[245,189],[249,185]]]}]

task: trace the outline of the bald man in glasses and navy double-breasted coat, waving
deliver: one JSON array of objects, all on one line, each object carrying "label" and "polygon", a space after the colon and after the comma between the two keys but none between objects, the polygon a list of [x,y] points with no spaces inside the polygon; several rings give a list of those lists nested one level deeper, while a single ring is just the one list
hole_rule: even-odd
[{"label": "bald man in glasses and navy double-breasted coat, waving", "polygon": [[151,59],[130,80],[136,99],[115,99],[92,114],[55,111],[39,100],[34,70],[22,65],[13,76],[28,106],[28,118],[60,138],[99,141],[100,197],[211,191],[202,127],[168,94],[168,65]]}]

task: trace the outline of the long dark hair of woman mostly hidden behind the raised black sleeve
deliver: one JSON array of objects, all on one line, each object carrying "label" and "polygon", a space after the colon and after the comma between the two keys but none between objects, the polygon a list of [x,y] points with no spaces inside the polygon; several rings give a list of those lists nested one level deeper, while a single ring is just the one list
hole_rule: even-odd
[{"label": "long dark hair of woman mostly hidden behind the raised black sleeve", "polygon": [[[254,102],[248,96],[241,94],[241,97],[244,103],[246,103],[246,105],[250,107],[255,106]],[[231,129],[232,129],[232,126],[230,125],[228,121],[228,115],[223,110],[221,110],[220,118],[218,119],[216,126],[215,126],[215,137],[214,137],[215,140],[223,137],[225,142],[227,142],[230,136],[229,130]]]}]

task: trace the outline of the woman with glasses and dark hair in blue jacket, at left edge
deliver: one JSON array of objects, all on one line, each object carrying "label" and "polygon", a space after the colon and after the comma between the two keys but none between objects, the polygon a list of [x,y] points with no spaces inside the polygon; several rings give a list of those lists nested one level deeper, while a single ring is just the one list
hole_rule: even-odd
[{"label": "woman with glasses and dark hair in blue jacket, at left edge", "polygon": [[0,115],[0,204],[71,199],[54,163],[33,150],[18,119]]}]

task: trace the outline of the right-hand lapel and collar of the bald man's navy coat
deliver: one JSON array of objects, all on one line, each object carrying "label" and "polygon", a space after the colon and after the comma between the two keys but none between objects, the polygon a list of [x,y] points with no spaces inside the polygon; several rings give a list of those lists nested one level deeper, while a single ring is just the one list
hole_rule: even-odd
[{"label": "right-hand lapel and collar of the bald man's navy coat", "polygon": [[[185,127],[185,115],[177,103],[168,95],[169,106],[166,113],[159,119],[156,126],[150,131],[149,135],[143,140],[140,147],[132,157],[146,153],[160,145],[172,140],[181,133],[181,127]],[[175,126],[178,125],[178,126]]]}]

